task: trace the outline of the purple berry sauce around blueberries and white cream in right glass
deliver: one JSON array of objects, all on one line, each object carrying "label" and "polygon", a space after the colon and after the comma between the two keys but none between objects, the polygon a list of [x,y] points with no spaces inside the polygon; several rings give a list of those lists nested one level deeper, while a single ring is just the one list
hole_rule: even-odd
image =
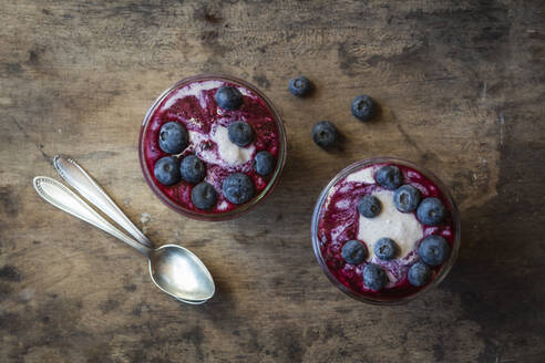
[{"label": "purple berry sauce around blueberries and white cream in right glass", "polygon": [[[452,206],[449,204],[448,198],[439,189],[436,184],[411,167],[395,165],[403,174],[403,184],[410,184],[418,188],[422,195],[422,199],[426,197],[436,197],[441,199],[448,209],[448,216],[441,225],[431,227],[420,224],[417,219],[415,211],[413,211],[411,215],[413,215],[414,219],[417,219],[419,224],[417,228],[421,228],[422,237],[415,240],[412,246],[409,246],[407,255],[399,256],[398,258],[389,261],[382,261],[376,256],[370,256],[367,260],[359,265],[354,266],[347,263],[341,257],[341,248],[346,241],[357,239],[364,242],[368,250],[372,249],[370,247],[370,242],[374,241],[358,239],[360,215],[357,206],[361,197],[364,195],[381,194],[387,190],[373,180],[374,172],[384,165],[395,164],[374,164],[371,166],[366,166],[354,173],[351,173],[335,184],[330,188],[329,194],[320,208],[317,232],[323,261],[326,262],[331,274],[341,284],[357,295],[391,301],[411,295],[423,288],[411,286],[407,278],[409,268],[419,260],[417,251],[419,242],[426,236],[440,235],[449,241],[452,249],[455,240],[455,222],[452,217]],[[366,180],[353,177],[356,174],[368,168],[371,168],[371,170],[369,170],[369,177]],[[394,214],[392,216],[394,216]],[[407,217],[408,216],[404,216],[404,218]],[[393,225],[395,222],[395,218],[392,218],[391,224]],[[388,230],[388,228],[390,228],[390,226],[385,226],[384,230]],[[367,288],[363,283],[362,271],[363,268],[370,262],[381,266],[389,277],[389,283],[380,291],[373,291]],[[433,276],[431,281],[435,279],[443,265],[432,268]]]}]

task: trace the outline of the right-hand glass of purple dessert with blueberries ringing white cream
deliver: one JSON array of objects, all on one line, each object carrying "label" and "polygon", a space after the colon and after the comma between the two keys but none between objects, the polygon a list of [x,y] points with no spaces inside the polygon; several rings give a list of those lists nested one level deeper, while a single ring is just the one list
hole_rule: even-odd
[{"label": "right-hand glass of purple dessert with blueberries ringing white cream", "polygon": [[457,257],[460,234],[456,205],[439,178],[391,157],[345,168],[312,215],[323,272],[372,304],[399,304],[435,287]]}]

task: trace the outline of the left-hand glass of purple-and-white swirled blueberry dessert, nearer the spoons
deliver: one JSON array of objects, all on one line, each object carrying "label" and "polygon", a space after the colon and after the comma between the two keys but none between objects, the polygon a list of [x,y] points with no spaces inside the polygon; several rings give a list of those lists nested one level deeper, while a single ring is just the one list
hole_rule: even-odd
[{"label": "left-hand glass of purple-and-white swirled blueberry dessert, nearer the spoons", "polygon": [[152,190],[175,211],[225,220],[275,187],[286,162],[286,132],[270,101],[225,75],[184,79],[147,111],[138,155]]}]

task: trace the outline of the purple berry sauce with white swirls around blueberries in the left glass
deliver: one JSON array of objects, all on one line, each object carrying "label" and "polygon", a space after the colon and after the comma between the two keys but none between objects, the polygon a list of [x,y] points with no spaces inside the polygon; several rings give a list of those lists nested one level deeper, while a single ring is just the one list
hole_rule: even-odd
[{"label": "purple berry sauce with white swirls around blueberries in the left glass", "polygon": [[[217,89],[224,85],[235,86],[243,93],[244,103],[239,110],[225,111],[217,106],[214,95]],[[189,145],[182,153],[181,158],[196,154],[206,164],[205,182],[212,184],[217,191],[217,204],[208,210],[198,209],[193,204],[191,194],[194,184],[182,180],[172,186],[164,186],[154,177],[155,163],[168,155],[158,146],[160,129],[162,125],[173,121],[184,124],[189,133]],[[235,121],[250,124],[255,137],[253,143],[244,149],[236,149],[245,157],[234,162],[233,156],[228,157],[225,153],[222,155],[220,146],[230,143],[225,139],[225,128]],[[176,205],[199,214],[223,214],[238,207],[229,203],[222,193],[223,182],[230,174],[244,173],[251,178],[256,188],[254,198],[271,182],[274,173],[265,177],[258,175],[253,168],[253,162],[255,154],[267,151],[278,163],[281,148],[278,127],[274,112],[267,103],[254,91],[243,85],[219,80],[184,83],[172,90],[151,115],[147,129],[142,136],[144,137],[143,164],[153,184]],[[222,145],[218,143],[219,139]],[[225,147],[232,147],[232,145]]]}]

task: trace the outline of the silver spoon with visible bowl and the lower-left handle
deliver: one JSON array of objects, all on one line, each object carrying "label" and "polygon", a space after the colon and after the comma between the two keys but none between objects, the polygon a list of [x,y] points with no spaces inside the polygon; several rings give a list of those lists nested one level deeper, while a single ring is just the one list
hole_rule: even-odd
[{"label": "silver spoon with visible bowl and the lower-left handle", "polygon": [[146,256],[152,281],[161,291],[192,304],[204,303],[214,295],[215,286],[210,272],[189,250],[177,245],[151,249],[119,230],[61,183],[38,176],[33,184],[44,200],[99,227]]}]

